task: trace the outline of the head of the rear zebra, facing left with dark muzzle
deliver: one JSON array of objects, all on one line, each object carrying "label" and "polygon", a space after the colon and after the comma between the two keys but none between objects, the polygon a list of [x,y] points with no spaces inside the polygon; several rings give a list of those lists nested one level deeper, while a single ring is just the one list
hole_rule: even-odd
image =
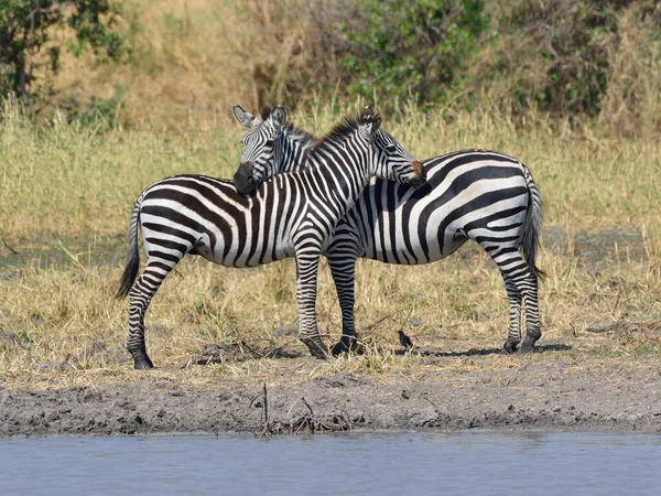
[{"label": "head of the rear zebra, facing left with dark muzzle", "polygon": [[270,112],[264,111],[263,119],[258,119],[235,105],[234,114],[237,120],[248,128],[241,140],[241,164],[234,176],[237,191],[247,195],[279,172],[275,171],[275,140],[286,122],[286,111],[278,105]]}]

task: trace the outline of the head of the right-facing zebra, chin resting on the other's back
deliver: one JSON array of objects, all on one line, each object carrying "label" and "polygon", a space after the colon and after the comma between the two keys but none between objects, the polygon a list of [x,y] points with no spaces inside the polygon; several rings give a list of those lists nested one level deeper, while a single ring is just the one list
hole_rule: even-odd
[{"label": "head of the right-facing zebra, chin resting on the other's back", "polygon": [[359,131],[373,150],[372,175],[420,187],[426,182],[424,166],[390,133],[381,129],[381,118],[366,106],[358,118]]}]

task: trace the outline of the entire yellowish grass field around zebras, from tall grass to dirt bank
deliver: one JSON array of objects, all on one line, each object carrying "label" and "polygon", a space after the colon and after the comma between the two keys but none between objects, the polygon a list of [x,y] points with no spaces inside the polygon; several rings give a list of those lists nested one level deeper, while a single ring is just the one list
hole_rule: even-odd
[{"label": "entire yellowish grass field around zebras, from tall grass to dirt bank", "polygon": [[[295,328],[292,260],[232,270],[191,257],[169,277],[147,315],[148,349],[162,369],[134,373],[130,363],[113,358],[124,346],[128,304],[112,299],[132,202],[167,174],[230,175],[241,129],[207,121],[182,134],[149,127],[101,132],[63,122],[35,128],[12,112],[6,111],[0,130],[0,377],[12,387],[137,380],[202,387],[305,380],[339,370],[413,380],[544,359],[579,368],[661,352],[657,142],[605,140],[589,129],[559,134],[543,121],[514,131],[507,116],[489,112],[457,114],[452,122],[409,112],[386,116],[384,127],[419,158],[485,147],[530,165],[549,226],[540,260],[549,272],[540,295],[542,344],[571,349],[466,355],[499,348],[508,315],[498,271],[467,245],[424,268],[359,262],[356,312],[365,356],[186,367],[208,343],[245,341],[303,352],[295,334],[273,335],[282,325]],[[294,116],[317,133],[334,120],[323,106]],[[339,309],[325,266],[317,309],[321,327],[336,339]],[[413,317],[421,325],[413,326]],[[398,328],[422,351],[457,355],[395,354]],[[95,342],[108,353],[93,353]]]}]

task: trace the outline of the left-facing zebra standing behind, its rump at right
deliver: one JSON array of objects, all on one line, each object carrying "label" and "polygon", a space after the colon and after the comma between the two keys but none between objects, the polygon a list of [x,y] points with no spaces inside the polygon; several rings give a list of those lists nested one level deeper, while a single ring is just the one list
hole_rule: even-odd
[{"label": "left-facing zebra standing behind, its rump at right", "polygon": [[[263,121],[235,106],[235,116],[250,128],[246,150],[256,157],[250,170],[241,165],[237,190],[250,194],[262,181],[281,172],[313,168],[306,161],[314,150],[312,134],[285,126],[273,151]],[[343,337],[333,354],[355,344],[355,272],[358,257],[387,263],[429,263],[447,257],[474,239],[496,261],[510,303],[508,353],[521,342],[521,304],[525,301],[525,339],[519,347],[532,351],[541,337],[535,266],[542,198],[528,168],[511,157],[487,150],[463,150],[423,162],[427,183],[413,190],[376,180],[338,223],[325,250],[342,309]],[[523,256],[519,251],[523,252]]]}]

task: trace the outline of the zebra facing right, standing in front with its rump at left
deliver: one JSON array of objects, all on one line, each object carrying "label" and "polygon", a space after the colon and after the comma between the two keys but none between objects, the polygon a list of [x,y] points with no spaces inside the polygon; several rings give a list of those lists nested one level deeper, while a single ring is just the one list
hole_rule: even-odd
[{"label": "zebra facing right, standing in front with its rump at left", "polygon": [[[284,108],[275,107],[266,121],[260,129],[277,139],[286,122]],[[130,300],[127,347],[134,367],[153,367],[144,343],[144,313],[186,254],[237,268],[295,257],[299,337],[313,356],[326,358],[328,349],[316,326],[316,278],[335,224],[372,175],[413,187],[425,182],[422,164],[380,125],[381,118],[366,107],[357,119],[345,119],[317,142],[306,159],[313,166],[264,182],[250,198],[231,181],[204,175],[175,175],[147,187],[131,214],[129,257],[117,293]],[[241,169],[250,170],[249,140],[243,144]],[[136,281],[139,229],[147,267]]]}]

